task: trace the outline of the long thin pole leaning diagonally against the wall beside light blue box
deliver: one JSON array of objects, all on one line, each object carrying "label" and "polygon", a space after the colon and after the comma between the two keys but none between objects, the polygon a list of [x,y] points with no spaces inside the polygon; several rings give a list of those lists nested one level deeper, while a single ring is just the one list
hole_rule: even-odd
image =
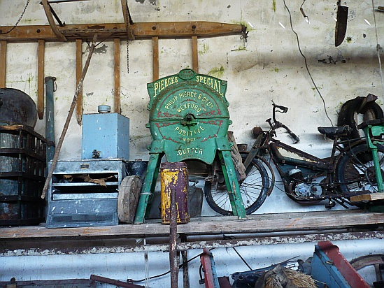
[{"label": "long thin pole leaning diagonally against the wall beside light blue box", "polygon": [[76,87],[76,92],[75,92],[75,95],[73,96],[71,108],[69,109],[68,116],[66,117],[66,122],[64,124],[62,135],[59,138],[59,143],[57,143],[55,155],[53,156],[53,159],[52,159],[52,165],[50,166],[50,171],[48,173],[47,179],[45,180],[43,192],[41,193],[41,198],[43,198],[43,199],[45,198],[45,194],[47,193],[48,187],[50,185],[50,180],[52,179],[53,171],[55,171],[57,159],[59,159],[59,153],[60,153],[60,150],[61,150],[62,145],[63,145],[64,137],[65,137],[66,131],[68,130],[69,122],[71,122],[71,117],[73,115],[73,111],[76,108],[76,102],[78,101],[78,94],[79,94],[81,88],[83,87],[83,81],[85,78],[85,74],[87,74],[88,67],[90,66],[91,57],[92,57],[92,54],[94,51],[94,47],[96,46],[96,41],[97,41],[97,34],[94,34],[93,39],[92,39],[92,45],[90,48],[90,53],[88,54],[87,62],[85,62],[83,73],[81,74],[81,78],[78,81],[78,86]]}]

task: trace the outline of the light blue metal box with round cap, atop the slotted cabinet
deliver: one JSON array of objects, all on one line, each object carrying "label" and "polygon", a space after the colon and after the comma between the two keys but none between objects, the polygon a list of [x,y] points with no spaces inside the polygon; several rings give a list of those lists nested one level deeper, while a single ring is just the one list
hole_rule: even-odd
[{"label": "light blue metal box with round cap, atop the slotted cabinet", "polygon": [[129,118],[119,113],[83,115],[81,159],[129,160]]}]

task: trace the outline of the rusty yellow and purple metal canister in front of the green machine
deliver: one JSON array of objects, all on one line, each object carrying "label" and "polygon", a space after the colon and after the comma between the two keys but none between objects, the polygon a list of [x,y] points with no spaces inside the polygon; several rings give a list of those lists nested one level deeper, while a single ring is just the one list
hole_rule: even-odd
[{"label": "rusty yellow and purple metal canister in front of the green machine", "polygon": [[176,191],[177,222],[190,222],[188,214],[188,173],[184,162],[164,162],[160,166],[162,224],[171,221],[171,191]]}]

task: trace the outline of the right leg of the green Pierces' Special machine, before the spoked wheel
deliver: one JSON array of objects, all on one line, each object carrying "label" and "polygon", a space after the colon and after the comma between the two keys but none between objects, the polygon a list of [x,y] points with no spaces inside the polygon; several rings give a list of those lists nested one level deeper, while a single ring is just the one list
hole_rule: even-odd
[{"label": "right leg of the green Pierces' Special machine, before the spoked wheel", "polygon": [[222,173],[224,174],[225,184],[228,189],[229,201],[231,201],[234,215],[239,219],[246,218],[246,209],[244,208],[243,199],[241,198],[239,182],[236,178],[234,162],[232,161],[231,152],[218,151]]}]

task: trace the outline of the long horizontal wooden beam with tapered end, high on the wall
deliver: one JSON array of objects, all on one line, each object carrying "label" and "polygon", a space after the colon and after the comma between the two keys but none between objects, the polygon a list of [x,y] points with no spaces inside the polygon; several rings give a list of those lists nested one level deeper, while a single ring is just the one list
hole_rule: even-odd
[{"label": "long horizontal wooden beam with tapered end, high on the wall", "polygon": [[[10,29],[9,26],[1,26],[0,31]],[[218,22],[145,22],[131,24],[135,39],[159,38],[190,38],[192,36],[213,37],[233,34],[241,34],[246,27],[240,24],[225,24]],[[94,34],[106,40],[113,38],[127,39],[127,31],[124,23],[107,24],[76,24],[66,25],[60,28],[60,32],[68,41],[76,41],[78,38],[91,41]],[[36,42],[38,40],[58,41],[57,36],[49,25],[17,26],[8,34],[0,34],[0,40],[8,42]]]}]

